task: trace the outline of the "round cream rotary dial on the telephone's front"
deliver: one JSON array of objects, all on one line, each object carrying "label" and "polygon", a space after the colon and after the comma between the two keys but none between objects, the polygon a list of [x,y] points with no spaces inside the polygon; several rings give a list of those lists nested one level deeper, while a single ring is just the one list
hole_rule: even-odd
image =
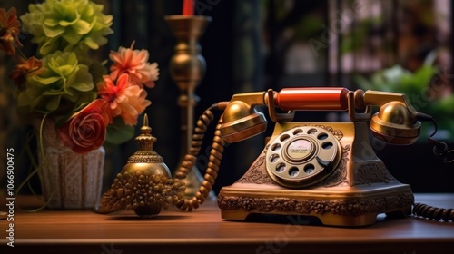
[{"label": "round cream rotary dial on the telephone's front", "polygon": [[281,133],[266,151],[266,169],[277,183],[302,188],[322,181],[341,160],[341,143],[320,127],[295,127]]}]

